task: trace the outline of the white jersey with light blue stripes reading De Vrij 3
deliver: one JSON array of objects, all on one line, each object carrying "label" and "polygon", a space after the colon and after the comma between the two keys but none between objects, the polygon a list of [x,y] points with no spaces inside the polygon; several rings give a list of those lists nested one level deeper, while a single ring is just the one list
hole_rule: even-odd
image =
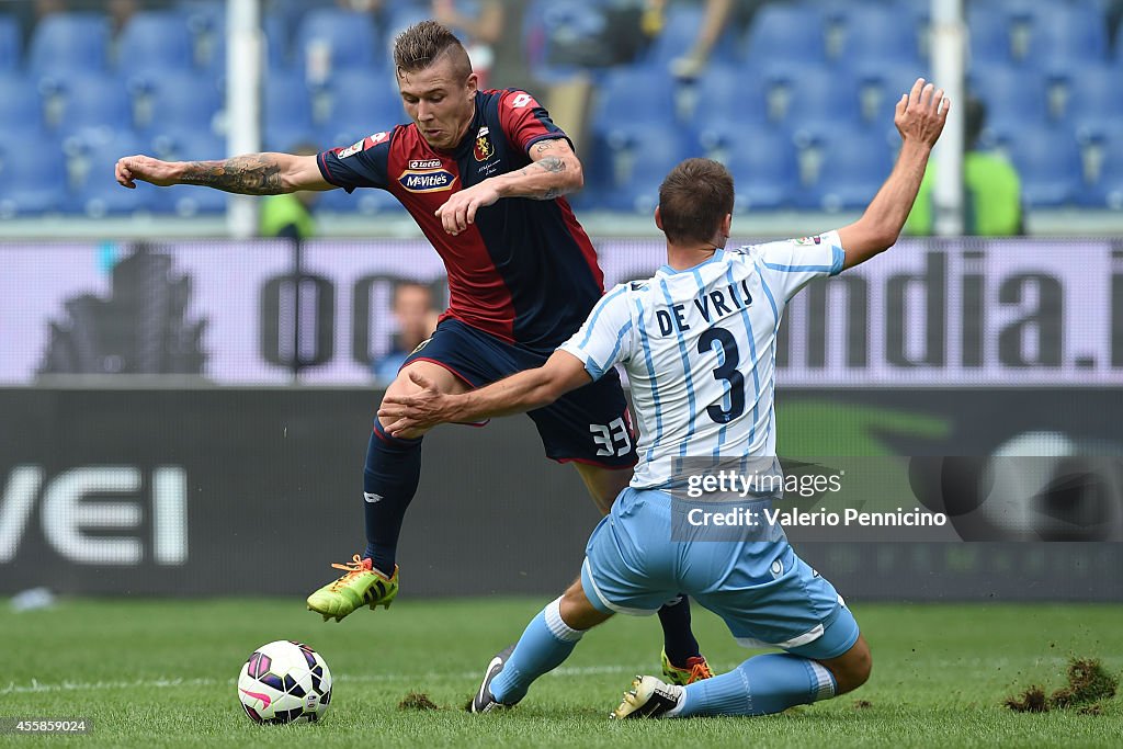
[{"label": "white jersey with light blue stripes reading De Vrij 3", "polygon": [[[776,454],[776,331],[807,282],[842,270],[838,232],[714,253],[619,284],[560,350],[594,380],[623,364],[639,428],[631,485],[665,486],[681,457]],[[595,429],[591,426],[591,429]]]}]

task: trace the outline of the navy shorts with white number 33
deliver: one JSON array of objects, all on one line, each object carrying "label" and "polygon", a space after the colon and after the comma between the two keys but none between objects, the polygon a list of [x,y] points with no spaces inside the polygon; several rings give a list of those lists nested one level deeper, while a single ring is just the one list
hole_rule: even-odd
[{"label": "navy shorts with white number 33", "polygon": [[[438,364],[472,387],[482,387],[523,369],[546,364],[553,351],[510,344],[459,320],[441,320],[429,340],[418,346],[411,362]],[[538,427],[546,456],[608,468],[636,465],[636,439],[628,417],[628,401],[615,371],[570,391],[528,415]]]}]

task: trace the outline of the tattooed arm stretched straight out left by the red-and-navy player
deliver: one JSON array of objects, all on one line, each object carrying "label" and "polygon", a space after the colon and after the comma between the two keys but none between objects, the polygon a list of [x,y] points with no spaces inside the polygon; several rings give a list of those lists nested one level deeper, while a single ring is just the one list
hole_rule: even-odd
[{"label": "tattooed arm stretched straight out left by the red-and-navy player", "polygon": [[331,190],[316,156],[246,154],[217,162],[163,162],[152,156],[126,156],[117,162],[117,182],[130,190],[137,181],[157,188],[199,184],[244,195],[275,195],[298,190]]}]

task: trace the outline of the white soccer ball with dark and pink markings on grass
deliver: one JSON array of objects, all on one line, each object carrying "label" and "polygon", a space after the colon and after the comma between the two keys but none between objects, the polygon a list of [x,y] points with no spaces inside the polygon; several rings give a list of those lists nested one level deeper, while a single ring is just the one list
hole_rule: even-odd
[{"label": "white soccer ball with dark and pink markings on grass", "polygon": [[302,642],[270,642],[241,667],[238,700],[255,723],[317,721],[331,702],[331,672],[323,656]]}]

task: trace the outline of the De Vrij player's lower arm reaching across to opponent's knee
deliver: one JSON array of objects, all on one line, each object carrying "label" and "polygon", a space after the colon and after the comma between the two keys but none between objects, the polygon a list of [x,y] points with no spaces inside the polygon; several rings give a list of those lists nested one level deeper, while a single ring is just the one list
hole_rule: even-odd
[{"label": "De Vrij player's lower arm reaching across to opponent's knee", "polygon": [[524,369],[459,395],[441,393],[417,372],[410,373],[410,380],[424,390],[410,395],[386,395],[378,409],[380,417],[396,419],[386,428],[391,436],[450,421],[478,421],[532,411],[592,382],[581,359],[566,351],[554,351],[537,369]]}]

